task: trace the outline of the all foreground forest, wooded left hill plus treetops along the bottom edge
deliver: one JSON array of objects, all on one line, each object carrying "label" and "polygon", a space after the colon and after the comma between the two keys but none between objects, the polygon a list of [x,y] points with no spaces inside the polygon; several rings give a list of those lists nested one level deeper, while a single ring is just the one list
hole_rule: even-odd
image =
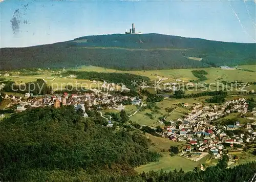
[{"label": "all foreground forest, wooded left hill plus treetops along the bottom edge", "polygon": [[[28,109],[1,122],[1,181],[173,181],[235,182],[250,179],[256,163],[227,168],[227,157],[205,171],[138,174],[134,167],[156,162],[160,154],[151,143],[129,127],[121,111],[113,127],[97,111],[84,119],[73,106]],[[113,113],[110,113],[113,115]],[[140,128],[140,126],[138,126]],[[142,128],[144,132],[149,128]],[[171,164],[170,164],[171,165]]]}]

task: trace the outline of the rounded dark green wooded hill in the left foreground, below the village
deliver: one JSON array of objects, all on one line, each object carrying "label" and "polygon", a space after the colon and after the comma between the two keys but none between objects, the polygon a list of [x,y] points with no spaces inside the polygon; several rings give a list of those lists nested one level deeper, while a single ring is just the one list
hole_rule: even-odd
[{"label": "rounded dark green wooded hill in the left foreground, below the village", "polygon": [[78,178],[79,171],[88,176],[133,174],[133,167],[158,160],[141,133],[106,127],[102,121],[98,116],[83,119],[73,106],[29,109],[4,119],[0,180],[47,181],[61,174]]}]

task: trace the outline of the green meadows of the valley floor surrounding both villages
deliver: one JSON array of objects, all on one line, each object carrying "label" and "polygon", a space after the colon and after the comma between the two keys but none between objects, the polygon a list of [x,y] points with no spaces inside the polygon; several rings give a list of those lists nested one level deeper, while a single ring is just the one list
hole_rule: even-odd
[{"label": "green meadows of the valley floor surrounding both villages", "polygon": [[[248,66],[240,66],[240,67],[243,67],[244,69],[246,69]],[[255,67],[255,65],[250,65],[249,67],[251,69],[253,69],[253,67]],[[226,102],[236,101],[237,99],[241,99],[241,98],[244,98],[244,99],[253,98],[254,100],[256,100],[256,96],[253,91],[254,84],[255,84],[254,78],[256,78],[255,77],[256,72],[247,72],[247,71],[242,71],[242,70],[222,70],[220,68],[207,68],[207,69],[203,69],[204,72],[207,73],[205,75],[207,79],[204,81],[195,81],[198,78],[193,74],[192,71],[200,71],[200,70],[202,70],[202,69],[129,71],[128,72],[128,71],[118,71],[118,70],[106,69],[106,68],[97,67],[97,66],[81,66],[81,67],[71,68],[71,69],[55,69],[55,70],[44,70],[44,69],[34,69],[34,70],[28,69],[27,70],[27,69],[25,69],[25,70],[2,71],[2,77],[0,77],[0,79],[2,80],[1,82],[3,84],[6,81],[11,81],[17,85],[23,84],[23,83],[34,82],[38,79],[44,80],[45,84],[51,86],[52,91],[53,91],[50,95],[45,95],[48,98],[49,97],[53,98],[53,96],[57,97],[57,98],[61,97],[61,93],[68,92],[67,88],[69,86],[75,85],[76,86],[75,88],[78,88],[78,90],[69,91],[69,92],[73,93],[72,96],[70,95],[70,97],[73,98],[73,100],[70,100],[70,101],[67,100],[67,102],[71,102],[71,105],[75,104],[75,107],[77,107],[79,104],[82,104],[83,102],[88,102],[88,101],[89,101],[89,107],[92,107],[94,104],[96,104],[97,108],[99,110],[101,110],[100,111],[101,117],[104,119],[110,119],[110,121],[114,124],[117,124],[118,120],[111,119],[113,117],[110,118],[109,116],[112,116],[112,115],[119,116],[120,110],[125,110],[126,115],[129,116],[129,122],[132,126],[135,126],[134,123],[136,123],[137,125],[140,126],[139,129],[141,129],[141,127],[143,128],[145,126],[154,128],[155,130],[157,130],[157,128],[161,128],[163,135],[165,135],[166,132],[169,132],[168,129],[166,130],[166,127],[168,128],[168,127],[170,127],[170,125],[172,125],[172,127],[175,128],[177,123],[182,124],[182,122],[186,121],[186,118],[189,115],[191,115],[191,112],[195,112],[195,109],[194,109],[194,111],[191,109],[193,107],[195,107],[196,104],[201,105],[199,107],[203,107],[203,110],[212,108],[213,105],[211,103],[206,102],[206,100],[211,98],[211,96],[199,96],[199,97],[193,96],[193,94],[200,95],[201,93],[205,92],[205,90],[202,90],[202,88],[198,88],[198,89],[196,87],[193,88],[193,85],[196,83],[197,84],[200,84],[200,83],[201,84],[203,84],[203,83],[204,84],[212,84],[212,83],[217,83],[217,82],[221,82],[221,81],[225,81],[226,83],[228,83],[228,82],[234,82],[236,80],[239,82],[245,83],[245,84],[252,83],[251,85],[244,86],[245,87],[244,89],[241,88],[242,86],[240,86],[240,87],[238,86],[238,88],[236,88],[234,90],[230,90],[230,91],[228,90],[227,96],[225,96],[225,100],[226,100]],[[147,83],[148,84],[147,86],[139,85],[139,84],[136,86],[135,91],[138,92],[137,94],[141,100],[141,101],[138,100],[139,101],[138,105],[137,104],[133,105],[131,103],[130,104],[125,103],[124,105],[120,106],[119,104],[124,103],[125,99],[127,99],[127,98],[132,99],[132,101],[133,100],[136,101],[136,98],[135,97],[132,98],[129,96],[128,97],[125,96],[126,97],[125,98],[123,96],[120,97],[117,95],[117,96],[115,96],[116,97],[115,100],[120,100],[120,102],[117,101],[117,104],[114,104],[114,105],[108,104],[108,106],[103,106],[104,104],[103,105],[100,104],[100,103],[103,103],[102,101],[98,101],[97,99],[95,100],[92,98],[91,98],[92,100],[90,100],[90,97],[88,97],[88,96],[86,96],[87,99],[85,101],[83,101],[82,98],[85,95],[83,96],[83,94],[81,93],[81,90],[79,91],[79,88],[84,87],[85,90],[91,89],[91,90],[93,90],[94,93],[96,90],[98,90],[96,92],[96,93],[98,93],[97,97],[105,98],[104,93],[110,92],[111,87],[109,87],[109,86],[111,86],[111,85],[103,87],[104,84],[106,84],[106,85],[109,84],[108,82],[105,82],[105,80],[95,80],[95,81],[93,80],[92,81],[92,79],[91,80],[77,79],[77,75],[69,75],[69,72],[74,73],[74,74],[76,74],[76,73],[94,73],[94,72],[106,73],[106,74],[129,73],[129,74],[143,76],[145,78],[148,78],[149,82]],[[67,73],[68,73],[68,75],[67,75]],[[95,84],[96,82],[97,82],[97,84]],[[154,87],[156,82],[161,83],[161,86]],[[187,96],[185,97],[185,95],[184,95],[184,98],[169,98],[169,97],[164,96],[162,101],[160,101],[160,102],[155,102],[155,103],[146,102],[146,99],[147,99],[147,97],[149,97],[149,95],[141,93],[141,89],[148,90],[149,93],[152,93],[152,96],[155,96],[159,92],[164,92],[162,95],[166,95],[166,94],[168,94],[168,96],[174,95],[175,92],[173,89],[164,91],[164,84],[167,84],[167,83],[181,84],[181,87],[179,87],[180,89],[184,89],[184,85],[189,84],[191,90],[185,89],[184,94],[187,96],[192,95],[192,97],[186,98]],[[94,84],[94,87],[90,87],[92,84]],[[123,87],[120,87],[120,85],[118,85],[117,83],[115,83],[115,84],[116,85],[113,87],[112,92],[117,92],[118,90],[122,91]],[[131,84],[132,84],[132,82],[131,82]],[[191,88],[191,85],[192,85],[192,88]],[[126,86],[130,87],[130,85],[126,85]],[[232,85],[229,87],[231,88]],[[104,89],[104,90],[100,91],[100,89]],[[217,87],[216,86],[208,87],[208,89],[217,89]],[[56,93],[54,93],[54,92],[56,92]],[[100,94],[100,92],[102,92],[102,94]],[[208,92],[212,92],[212,91],[209,90]],[[129,92],[127,92],[127,94],[128,93]],[[8,96],[4,97],[3,94],[7,94]],[[76,95],[76,96],[73,96],[73,95]],[[124,94],[124,95],[126,95],[126,94]],[[15,101],[15,99],[14,100],[11,99],[9,96],[10,97],[15,96],[16,98],[18,98],[18,97],[23,98],[22,93],[3,92],[2,93],[3,101],[1,102],[2,109],[9,109],[9,107],[15,109],[15,106],[17,106],[17,104],[16,104],[17,101]],[[43,100],[44,100],[44,98],[46,98],[45,96],[38,95],[35,97],[35,99],[37,100],[37,104],[39,104],[38,105],[39,107],[40,107],[40,101],[39,101],[40,98],[43,98]],[[110,95],[109,95],[109,97],[110,97]],[[76,98],[81,98],[81,99],[77,100]],[[22,99],[22,100],[24,100],[24,99]],[[103,99],[103,101],[104,100],[108,101],[107,98]],[[47,104],[49,101],[47,101]],[[18,102],[20,102],[20,101],[18,101]],[[24,101],[23,101],[23,103],[24,103]],[[34,101],[32,101],[31,104],[32,103],[34,103]],[[49,104],[50,103],[53,104],[53,102],[51,102],[51,101],[49,102]],[[106,103],[108,103],[108,102],[106,102]],[[150,105],[150,107],[148,107],[149,105]],[[220,103],[219,103],[219,105],[220,105]],[[33,105],[30,105],[29,107],[31,107],[31,106],[33,106]],[[100,106],[101,106],[101,108],[100,108]],[[217,106],[216,103],[215,103],[215,106]],[[84,107],[84,106],[82,106],[82,107]],[[220,110],[222,110],[221,107],[223,107],[223,106],[222,105],[219,106]],[[224,106],[224,107],[226,107],[226,106]],[[18,109],[18,108],[16,108],[16,109]],[[26,109],[24,109],[24,110],[26,110]],[[111,113],[111,115],[110,115],[110,113]],[[209,115],[209,113],[211,113],[211,112],[207,111],[207,113]],[[212,113],[214,113],[214,112],[212,112]],[[256,120],[255,116],[254,117],[253,116],[254,116],[253,112],[248,113],[248,116],[244,115],[244,114],[241,115],[240,113],[230,113],[229,115],[227,115],[225,117],[221,117],[220,119],[217,119],[214,122],[217,125],[212,123],[211,126],[216,127],[216,126],[218,126],[218,124],[225,125],[225,123],[228,123],[231,120],[232,121],[236,120],[236,121],[239,121],[240,124],[246,125],[246,123],[253,123],[254,122],[253,120]],[[4,116],[4,117],[8,118],[8,117],[10,117],[10,115],[6,114],[6,116]],[[192,119],[191,121],[193,121],[193,120],[195,120],[195,119]],[[201,120],[199,119],[199,121],[201,121]],[[168,122],[169,122],[169,124],[168,124]],[[218,127],[220,127],[220,126],[218,126]],[[253,125],[253,127],[254,127],[254,125]],[[242,130],[244,130],[244,129],[242,129]],[[241,130],[241,132],[242,132],[242,130]],[[175,131],[175,129],[173,131],[175,133],[175,138],[177,138],[179,136],[179,134],[178,134],[179,131],[178,130]],[[158,134],[156,134],[156,135],[158,135]],[[252,136],[253,135],[251,135],[251,137]],[[152,135],[152,133],[150,134],[150,133],[146,132],[146,137],[152,141],[152,147],[150,148],[150,150],[160,152],[162,157],[160,158],[160,160],[158,162],[142,165],[142,166],[135,168],[135,170],[139,173],[141,173],[143,171],[148,172],[151,170],[154,170],[154,171],[158,171],[158,170],[168,171],[168,170],[174,170],[174,169],[178,170],[180,168],[182,168],[184,171],[191,171],[191,170],[194,170],[194,168],[197,168],[198,166],[200,166],[200,164],[203,164],[204,167],[216,165],[216,156],[214,157],[214,156],[211,156],[210,154],[203,157],[201,160],[199,160],[197,162],[191,161],[188,158],[183,157],[182,152],[189,145],[187,144],[185,139],[182,139],[182,137],[180,137],[180,138],[178,137],[179,139],[181,139],[179,142],[178,141],[174,142],[174,141],[172,141],[173,139],[170,140],[168,134],[165,135],[164,138],[162,138],[160,135],[158,137],[156,137],[155,135]],[[230,136],[230,137],[232,138],[232,136]],[[254,140],[253,137],[252,137],[252,140]],[[243,145],[246,146],[247,144],[245,143]],[[179,151],[181,153],[179,153],[176,156],[170,156],[169,155],[169,147],[170,146],[178,146]],[[253,150],[253,144],[252,144],[251,149]],[[228,150],[230,150],[230,149],[228,149]],[[194,151],[198,151],[198,148],[194,149]],[[242,157],[241,160],[239,160],[239,163],[237,163],[237,164],[247,163],[247,162],[256,160],[255,156],[249,152],[246,152],[245,156],[248,156],[248,157]],[[212,158],[212,157],[214,157],[214,158]]]}]

